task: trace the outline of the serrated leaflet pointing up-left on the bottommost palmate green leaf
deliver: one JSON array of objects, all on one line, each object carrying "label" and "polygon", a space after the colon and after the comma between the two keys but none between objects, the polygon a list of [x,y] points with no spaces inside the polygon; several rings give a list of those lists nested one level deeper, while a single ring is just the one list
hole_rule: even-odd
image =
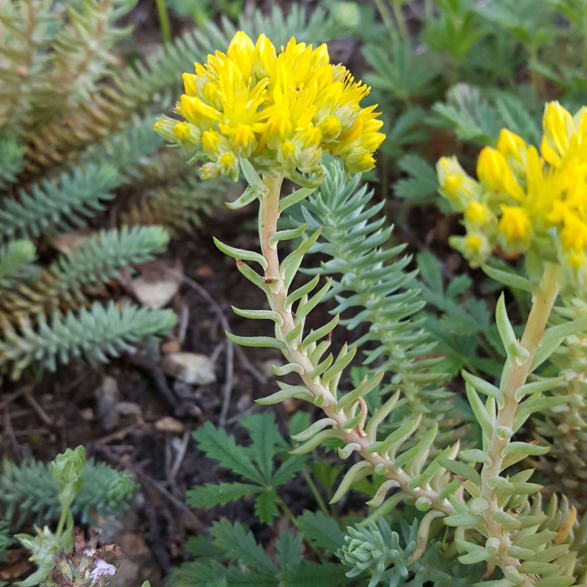
[{"label": "serrated leaflet pointing up-left on the bottommost palmate green leaf", "polygon": [[265,554],[262,546],[255,542],[252,532],[247,532],[243,525],[233,525],[227,519],[221,519],[212,526],[211,534],[217,546],[252,571],[273,578],[277,574],[276,566]]}]

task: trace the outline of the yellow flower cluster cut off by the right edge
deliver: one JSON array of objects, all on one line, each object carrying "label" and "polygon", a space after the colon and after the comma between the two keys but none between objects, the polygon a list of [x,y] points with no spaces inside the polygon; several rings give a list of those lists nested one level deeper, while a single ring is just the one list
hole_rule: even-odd
[{"label": "yellow flower cluster cut off by the right edge", "polygon": [[587,269],[587,107],[571,116],[546,104],[540,151],[502,129],[496,148],[485,147],[477,180],[456,157],[438,161],[441,194],[463,212],[464,237],[451,244],[474,266],[501,247],[558,259]]}]

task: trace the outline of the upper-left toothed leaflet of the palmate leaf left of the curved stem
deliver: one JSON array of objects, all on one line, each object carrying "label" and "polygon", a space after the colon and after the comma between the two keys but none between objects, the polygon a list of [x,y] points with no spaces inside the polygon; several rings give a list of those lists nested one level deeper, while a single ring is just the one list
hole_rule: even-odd
[{"label": "upper-left toothed leaflet of the palmate leaf left of the curved stem", "polygon": [[238,446],[234,436],[227,434],[223,429],[216,428],[211,422],[205,422],[194,431],[193,436],[198,442],[198,447],[206,453],[207,457],[213,458],[222,467],[255,483],[264,484],[264,478],[252,463],[249,452],[246,448]]}]

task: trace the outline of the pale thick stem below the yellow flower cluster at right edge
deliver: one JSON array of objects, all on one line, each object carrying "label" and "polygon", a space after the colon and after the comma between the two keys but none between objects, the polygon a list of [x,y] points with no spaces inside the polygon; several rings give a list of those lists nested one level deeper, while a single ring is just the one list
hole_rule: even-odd
[{"label": "pale thick stem below the yellow flower cluster at right edge", "polygon": [[[509,429],[514,427],[514,418],[518,409],[519,402],[515,399],[515,392],[524,385],[528,376],[532,359],[538,348],[539,343],[544,336],[546,322],[552,311],[552,306],[556,300],[559,289],[559,274],[561,268],[559,265],[548,264],[542,274],[542,279],[538,286],[538,292],[535,295],[532,303],[532,309],[528,316],[528,321],[524,329],[524,334],[520,340],[521,345],[528,351],[528,357],[524,363],[518,364],[517,360],[510,359],[510,369],[507,373],[507,380],[504,385],[504,406],[498,410],[497,420],[494,427],[494,433],[491,437],[487,454],[491,458],[491,465],[484,465],[481,470],[481,497],[489,504],[487,510],[483,512],[485,523],[489,531],[490,537],[495,537],[500,540],[500,547],[498,554],[504,566],[512,565],[519,566],[520,562],[517,558],[512,558],[505,554],[505,549],[511,546],[510,537],[508,533],[504,533],[499,522],[491,520],[491,514],[498,511],[497,499],[494,497],[495,488],[490,488],[487,485],[487,480],[490,477],[497,477],[501,473],[504,457],[502,451],[509,443],[510,439],[507,437],[500,438],[495,429],[498,426],[504,426]],[[532,584],[532,583],[530,583]]]}]

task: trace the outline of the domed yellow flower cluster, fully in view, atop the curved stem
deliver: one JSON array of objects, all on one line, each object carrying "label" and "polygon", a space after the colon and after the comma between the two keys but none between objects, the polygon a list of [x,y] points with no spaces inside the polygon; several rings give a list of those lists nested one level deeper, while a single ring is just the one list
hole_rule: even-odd
[{"label": "domed yellow flower cluster, fully in view, atop the curved stem", "polygon": [[207,161],[204,178],[236,179],[238,157],[287,177],[313,173],[325,152],[348,171],[368,171],[385,138],[376,106],[359,106],[369,87],[331,65],[326,45],[313,49],[292,38],[277,55],[265,35],[254,44],[238,32],[226,54],[208,55],[183,82],[176,112],[185,121],[163,117],[155,129]]}]

